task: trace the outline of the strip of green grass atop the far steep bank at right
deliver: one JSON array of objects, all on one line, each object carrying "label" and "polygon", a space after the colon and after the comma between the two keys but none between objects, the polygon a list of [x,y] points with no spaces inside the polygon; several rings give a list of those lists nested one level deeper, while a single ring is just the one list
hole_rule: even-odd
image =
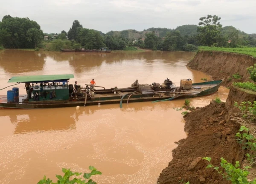
[{"label": "strip of green grass atop the far steep bank at right", "polygon": [[256,57],[256,48],[255,47],[226,48],[226,47],[200,46],[199,51],[233,52],[233,53],[250,55],[250,56]]}]

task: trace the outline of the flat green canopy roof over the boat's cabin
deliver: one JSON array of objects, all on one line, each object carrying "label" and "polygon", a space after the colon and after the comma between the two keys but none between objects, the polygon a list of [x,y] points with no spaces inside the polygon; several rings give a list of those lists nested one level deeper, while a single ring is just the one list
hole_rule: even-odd
[{"label": "flat green canopy roof over the boat's cabin", "polygon": [[31,76],[20,76],[12,77],[9,79],[9,83],[14,82],[51,82],[51,81],[64,81],[74,78],[73,74],[64,74],[64,75],[31,75]]}]

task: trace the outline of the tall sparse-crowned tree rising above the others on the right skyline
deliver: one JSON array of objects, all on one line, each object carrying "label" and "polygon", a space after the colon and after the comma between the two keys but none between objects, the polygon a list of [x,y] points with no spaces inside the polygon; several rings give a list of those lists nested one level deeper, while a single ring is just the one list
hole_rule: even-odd
[{"label": "tall sparse-crowned tree rising above the others on the right skyline", "polygon": [[207,15],[207,17],[201,17],[201,22],[198,23],[198,40],[203,46],[212,46],[217,43],[216,38],[221,34],[222,25],[219,20],[221,17],[217,15]]}]

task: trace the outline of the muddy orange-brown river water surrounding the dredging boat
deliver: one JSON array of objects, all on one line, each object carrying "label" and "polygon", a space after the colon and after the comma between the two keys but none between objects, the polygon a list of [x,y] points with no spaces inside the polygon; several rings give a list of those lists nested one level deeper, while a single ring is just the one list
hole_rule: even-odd
[{"label": "muddy orange-brown river water surrounding the dredging boat", "polygon": [[[74,74],[84,85],[94,78],[106,88],[163,82],[179,86],[180,78],[209,78],[186,68],[192,52],[119,52],[81,54],[6,50],[0,53],[0,89],[12,76]],[[25,93],[19,84],[20,94]],[[12,87],[8,88],[12,89]],[[191,99],[205,106],[219,96]],[[6,89],[0,91],[6,95]],[[153,184],[172,160],[174,142],[186,137],[181,111],[184,100],[59,109],[0,110],[0,183],[35,184],[44,175],[55,178],[66,167],[76,172],[92,165],[103,175],[99,184]],[[55,180],[54,180],[55,181]]]}]

